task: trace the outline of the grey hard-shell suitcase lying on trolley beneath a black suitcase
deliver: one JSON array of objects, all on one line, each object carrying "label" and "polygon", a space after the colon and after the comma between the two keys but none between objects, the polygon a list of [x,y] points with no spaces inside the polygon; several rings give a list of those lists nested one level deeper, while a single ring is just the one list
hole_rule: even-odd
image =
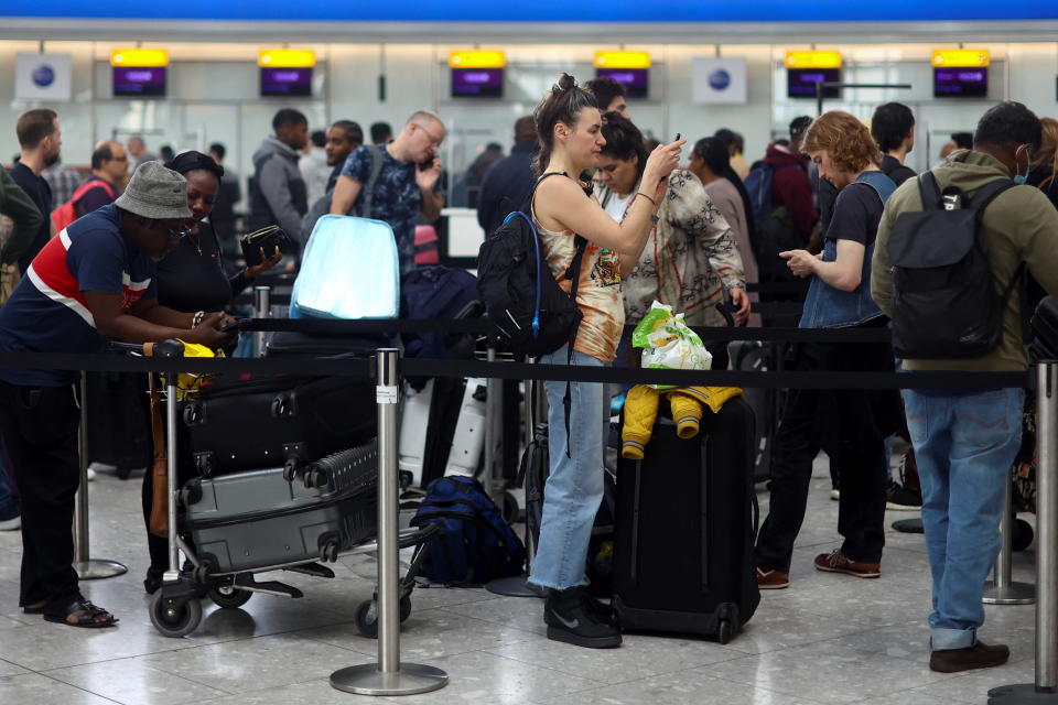
[{"label": "grey hard-shell suitcase lying on trolley beneath a black suitcase", "polygon": [[302,468],[199,477],[181,490],[185,525],[212,574],[334,561],[375,536],[378,444],[335,453]]}]

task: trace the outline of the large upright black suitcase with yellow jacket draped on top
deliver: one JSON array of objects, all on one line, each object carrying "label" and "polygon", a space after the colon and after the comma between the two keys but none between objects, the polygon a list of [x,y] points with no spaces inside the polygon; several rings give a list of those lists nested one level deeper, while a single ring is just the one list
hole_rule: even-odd
[{"label": "large upright black suitcase with yellow jacket draped on top", "polygon": [[726,643],[760,601],[753,546],[753,411],[732,399],[688,440],[661,419],[643,460],[617,467],[614,606],[628,630]]}]

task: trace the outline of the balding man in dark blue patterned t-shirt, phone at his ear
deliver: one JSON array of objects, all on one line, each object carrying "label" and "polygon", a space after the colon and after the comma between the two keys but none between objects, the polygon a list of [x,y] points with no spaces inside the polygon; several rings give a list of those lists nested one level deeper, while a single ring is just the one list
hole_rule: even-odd
[{"label": "balding man in dark blue patterned t-shirt, phone at his ear", "polygon": [[[444,198],[438,191],[444,141],[444,122],[429,110],[412,115],[391,142],[381,148],[358,148],[345,161],[331,197],[331,213],[344,216],[355,205],[366,218],[384,220],[393,228],[400,271],[415,268],[415,223],[421,213],[433,223],[441,216]],[[380,150],[381,154],[377,154]],[[382,162],[373,174],[373,163]],[[370,213],[363,213],[364,186],[370,185]]]}]

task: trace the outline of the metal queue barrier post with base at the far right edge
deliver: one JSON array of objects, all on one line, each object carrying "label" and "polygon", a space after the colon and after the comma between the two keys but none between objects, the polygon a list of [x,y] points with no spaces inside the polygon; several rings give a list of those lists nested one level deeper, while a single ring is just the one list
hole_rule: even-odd
[{"label": "metal queue barrier post with base at the far right edge", "polygon": [[1036,366],[1036,677],[989,691],[990,705],[1058,704],[1058,362]]}]

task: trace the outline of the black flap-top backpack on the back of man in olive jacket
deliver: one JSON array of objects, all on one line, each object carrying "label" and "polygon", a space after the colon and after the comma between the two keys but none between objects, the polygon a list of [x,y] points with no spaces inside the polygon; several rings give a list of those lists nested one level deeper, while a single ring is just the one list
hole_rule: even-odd
[{"label": "black flap-top backpack on the back of man in olive jacket", "polygon": [[[1003,335],[1003,310],[1018,268],[1002,293],[992,284],[987,235],[981,225],[993,198],[1012,187],[1000,178],[948,209],[932,172],[918,177],[922,210],[903,213],[889,235],[893,263],[893,351],[910,359],[979,357]],[[982,285],[984,283],[984,285]]]}]

